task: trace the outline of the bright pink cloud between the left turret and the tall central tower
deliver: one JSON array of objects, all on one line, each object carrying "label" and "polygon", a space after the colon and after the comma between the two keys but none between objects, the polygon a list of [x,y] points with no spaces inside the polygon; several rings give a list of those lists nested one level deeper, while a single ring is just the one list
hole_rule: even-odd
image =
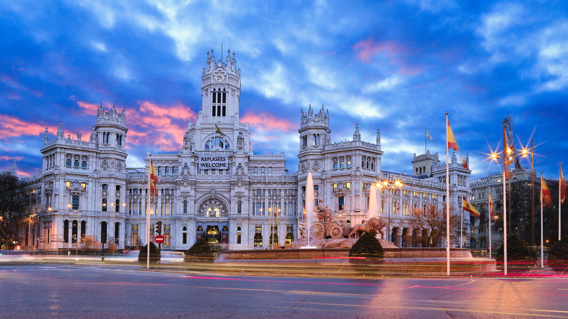
[{"label": "bright pink cloud between the left turret and the tall central tower", "polygon": [[185,134],[187,122],[195,121],[197,114],[182,103],[161,106],[139,101],[140,110],[127,110],[129,145],[154,145],[163,150],[177,150]]}]

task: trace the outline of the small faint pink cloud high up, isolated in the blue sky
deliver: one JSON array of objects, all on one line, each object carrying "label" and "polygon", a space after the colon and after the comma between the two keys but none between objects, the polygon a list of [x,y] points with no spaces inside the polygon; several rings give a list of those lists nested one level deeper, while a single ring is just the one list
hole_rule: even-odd
[{"label": "small faint pink cloud high up, isolated in the blue sky", "polygon": [[421,68],[409,65],[406,56],[412,54],[411,50],[392,41],[377,42],[372,39],[359,41],[353,45],[353,50],[357,52],[357,58],[361,62],[371,62],[373,58],[382,56],[389,60],[391,65],[399,68],[399,73],[403,75],[416,75],[421,72]]}]

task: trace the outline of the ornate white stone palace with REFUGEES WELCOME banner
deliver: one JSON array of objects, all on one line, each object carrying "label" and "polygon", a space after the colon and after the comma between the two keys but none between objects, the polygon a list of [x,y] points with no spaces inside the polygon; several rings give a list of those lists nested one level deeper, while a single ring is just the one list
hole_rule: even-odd
[{"label": "ornate white stone palace with REFUGEES WELCOME banner", "polygon": [[[267,247],[269,237],[283,245],[298,237],[308,171],[316,198],[336,211],[337,220],[350,224],[376,214],[369,209],[371,184],[406,178],[402,189],[390,196],[379,192],[377,199],[378,214],[390,216],[390,239],[399,246],[407,245],[403,234],[412,232],[406,224],[411,209],[444,202],[445,166],[437,154],[415,156],[416,174],[382,171],[379,131],[374,143],[361,140],[358,126],[352,141],[332,143],[323,108],[318,114],[311,107],[301,112],[298,173],[287,174],[284,153],[250,150],[249,125],[239,120],[240,87],[235,53],[231,58],[228,51],[225,62],[215,61],[212,50],[207,53],[197,121],[188,123],[179,152],[147,152],[145,167],[126,167],[124,108],[119,112],[113,105],[106,112],[101,104],[88,141],[65,137],[61,122],[54,140],[46,129],[43,169],[31,177],[41,194],[39,248],[73,248],[82,235],[99,241],[115,237],[119,247],[144,243],[147,213],[151,238],[161,221],[165,247],[171,249],[188,249],[203,237],[227,249]],[[148,210],[150,158],[158,175],[158,198]],[[227,165],[199,166],[215,161]],[[469,192],[469,173],[454,154],[452,203],[461,203],[460,192]]]}]

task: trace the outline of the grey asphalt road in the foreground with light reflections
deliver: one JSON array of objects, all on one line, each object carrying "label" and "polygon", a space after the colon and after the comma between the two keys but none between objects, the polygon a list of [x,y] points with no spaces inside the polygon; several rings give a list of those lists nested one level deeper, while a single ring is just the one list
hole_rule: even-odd
[{"label": "grey asphalt road in the foreground with light reflections", "polygon": [[289,278],[0,266],[3,318],[568,318],[568,279]]}]

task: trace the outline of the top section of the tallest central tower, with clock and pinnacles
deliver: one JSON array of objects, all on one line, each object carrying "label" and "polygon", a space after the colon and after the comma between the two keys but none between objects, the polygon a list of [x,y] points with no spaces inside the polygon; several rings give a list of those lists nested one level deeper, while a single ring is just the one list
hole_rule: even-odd
[{"label": "top section of the tallest central tower, with clock and pinnacles", "polygon": [[225,62],[215,61],[213,49],[207,52],[207,67],[201,77],[202,121],[232,123],[239,121],[241,69],[236,67],[235,52],[227,50]]}]

